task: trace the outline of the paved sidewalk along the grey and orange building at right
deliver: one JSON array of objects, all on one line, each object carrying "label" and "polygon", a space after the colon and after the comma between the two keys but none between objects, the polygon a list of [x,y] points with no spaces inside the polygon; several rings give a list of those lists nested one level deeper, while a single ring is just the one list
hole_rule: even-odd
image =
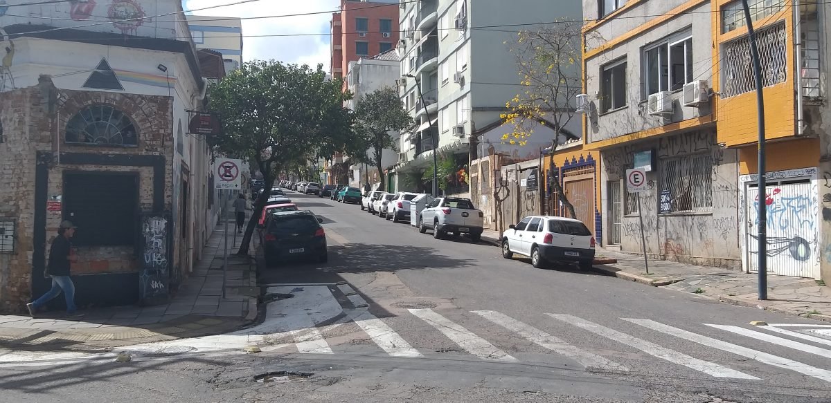
[{"label": "paved sidewalk along the grey and orange building at right", "polygon": [[[499,233],[485,231],[482,240],[499,245]],[[649,274],[643,256],[597,248],[594,269],[653,287],[666,287],[725,303],[767,309],[831,322],[831,288],[814,279],[768,275],[768,299],[758,299],[757,275],[717,267],[686,265],[669,260],[649,260]]]}]

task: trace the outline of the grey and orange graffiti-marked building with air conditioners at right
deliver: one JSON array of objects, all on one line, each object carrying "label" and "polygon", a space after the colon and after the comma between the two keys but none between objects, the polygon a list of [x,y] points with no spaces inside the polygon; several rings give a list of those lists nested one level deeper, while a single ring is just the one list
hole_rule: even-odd
[{"label": "grey and orange graffiti-marked building with air conditioners at right", "polygon": [[[750,0],[765,95],[760,195],[741,1],[583,0],[583,144],[556,153],[548,177],[569,197],[588,181],[579,187],[595,211],[586,224],[604,247],[640,253],[643,234],[652,258],[755,272],[765,202],[769,270],[829,278],[831,142],[820,123],[829,119],[820,107],[829,34],[818,6]],[[649,191],[627,192],[630,168],[647,171]]]}]

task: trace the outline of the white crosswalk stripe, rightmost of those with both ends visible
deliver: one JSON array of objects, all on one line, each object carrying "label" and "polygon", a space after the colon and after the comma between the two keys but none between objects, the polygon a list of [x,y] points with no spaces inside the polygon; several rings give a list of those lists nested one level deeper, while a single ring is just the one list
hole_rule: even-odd
[{"label": "white crosswalk stripe, rightmost of those with both ends visible", "polygon": [[673,362],[684,367],[694,369],[696,371],[701,371],[711,376],[719,378],[759,379],[755,376],[747,375],[744,372],[735,371],[727,367],[722,367],[713,362],[699,360],[698,358],[690,357],[681,352],[676,352],[675,350],[658,346],[653,342],[647,342],[646,340],[630,336],[626,333],[618,332],[617,330],[606,328],[604,326],[598,325],[597,323],[589,322],[588,320],[582,318],[578,318],[567,314],[546,314],[552,318],[559,319],[565,323],[571,323],[574,326],[577,326],[578,328],[586,329],[589,332],[598,334],[602,337],[607,337],[616,342],[622,342],[628,346],[635,347],[638,350],[646,352],[647,354],[651,354],[654,357],[658,357],[668,362]]}]

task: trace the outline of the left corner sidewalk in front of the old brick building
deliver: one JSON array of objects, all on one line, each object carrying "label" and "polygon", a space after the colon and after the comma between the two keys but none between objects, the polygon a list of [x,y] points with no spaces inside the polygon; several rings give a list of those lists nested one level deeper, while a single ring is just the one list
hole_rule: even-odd
[{"label": "left corner sidewalk in front of the old brick building", "polygon": [[[234,253],[241,236],[236,234],[233,245],[234,224],[228,225],[229,253]],[[229,255],[227,298],[222,298],[223,230],[221,224],[214,229],[204,247],[203,259],[170,303],[82,310],[81,318],[71,320],[62,320],[61,312],[41,313],[37,318],[0,315],[0,347],[100,350],[225,333],[253,322],[258,297],[253,259]]]}]

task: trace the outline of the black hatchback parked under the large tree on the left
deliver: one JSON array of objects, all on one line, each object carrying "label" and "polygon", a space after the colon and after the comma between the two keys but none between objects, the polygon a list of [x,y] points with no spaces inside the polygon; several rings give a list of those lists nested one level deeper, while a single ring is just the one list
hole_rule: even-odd
[{"label": "black hatchback parked under the large tree on the left", "polygon": [[281,211],[268,216],[263,230],[266,265],[294,259],[329,260],[322,221],[312,211]]}]

